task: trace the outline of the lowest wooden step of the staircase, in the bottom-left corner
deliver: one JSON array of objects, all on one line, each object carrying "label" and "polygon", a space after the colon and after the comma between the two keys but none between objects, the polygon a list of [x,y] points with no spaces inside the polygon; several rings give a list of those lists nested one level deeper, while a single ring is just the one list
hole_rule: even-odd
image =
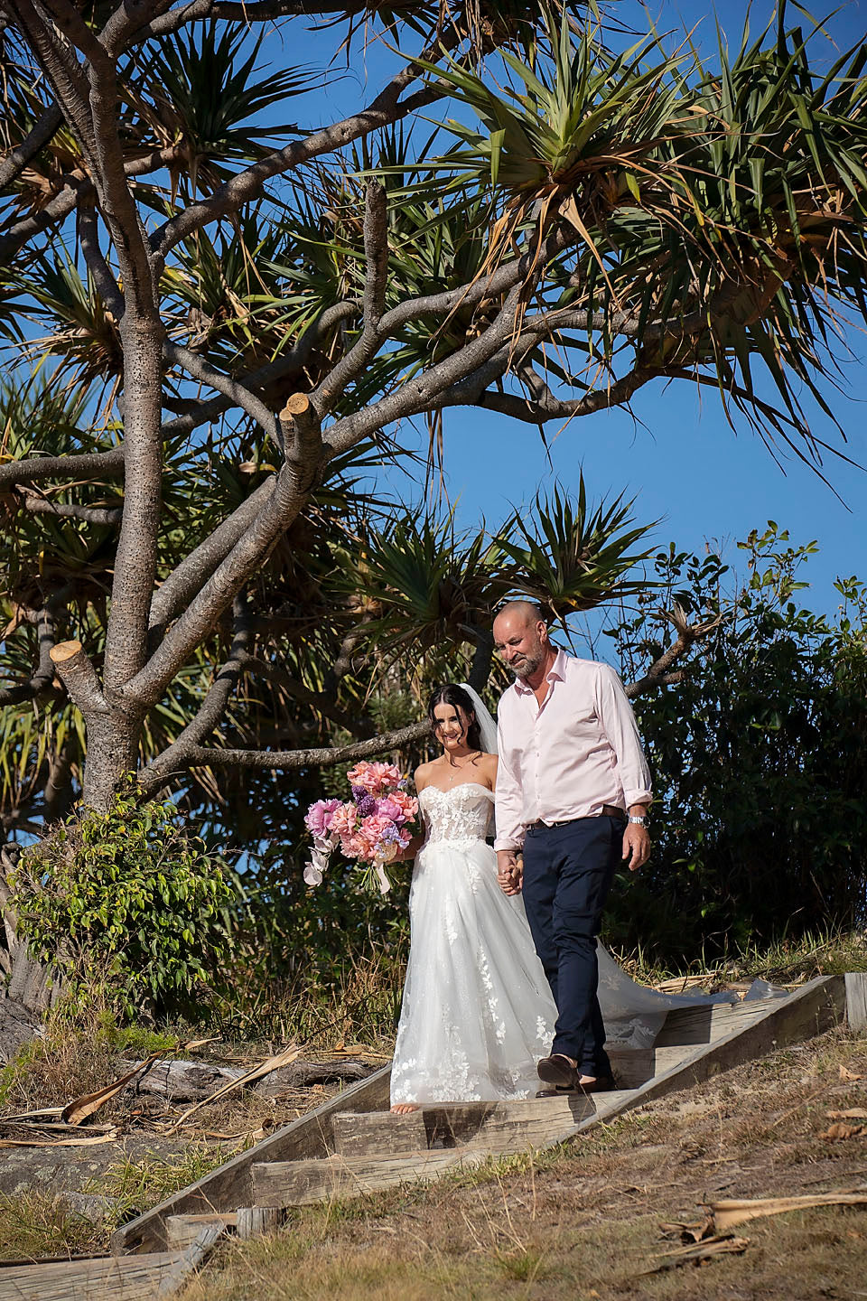
[{"label": "lowest wooden step of the staircase, in the bottom-left corner", "polygon": [[0,1301],[156,1301],[177,1292],[221,1232],[200,1227],[183,1252],[6,1267],[0,1270]]}]

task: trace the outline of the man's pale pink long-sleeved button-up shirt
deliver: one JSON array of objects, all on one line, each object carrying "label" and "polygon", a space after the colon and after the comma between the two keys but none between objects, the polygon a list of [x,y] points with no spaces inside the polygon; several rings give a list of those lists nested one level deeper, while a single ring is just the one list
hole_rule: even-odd
[{"label": "man's pale pink long-sleeved button-up shirt", "polygon": [[614,669],[558,650],[547,682],[541,706],[520,679],[499,703],[498,850],[520,848],[530,822],[650,804],[638,727]]}]

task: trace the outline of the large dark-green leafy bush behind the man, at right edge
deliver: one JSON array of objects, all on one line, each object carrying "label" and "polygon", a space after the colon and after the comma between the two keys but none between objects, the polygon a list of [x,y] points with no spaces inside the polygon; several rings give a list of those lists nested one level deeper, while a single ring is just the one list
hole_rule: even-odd
[{"label": "large dark-green leafy bush behind the man, at right edge", "polygon": [[636,701],[654,773],[654,853],[617,882],[606,937],[677,965],[867,919],[867,588],[836,584],[836,617],[803,609],[818,549],[773,523],[740,544],[746,580],[718,557],[656,557],[662,596],[612,630],[641,675],[679,601],[718,627],[677,686]]}]

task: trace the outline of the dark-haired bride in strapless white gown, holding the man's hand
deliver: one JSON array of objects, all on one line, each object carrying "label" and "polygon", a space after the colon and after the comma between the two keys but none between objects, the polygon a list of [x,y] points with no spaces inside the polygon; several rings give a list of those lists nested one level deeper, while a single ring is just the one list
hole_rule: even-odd
[{"label": "dark-haired bride in strapless white gown, holding the man's hand", "polygon": [[485,840],[497,783],[493,719],[456,684],[434,691],[428,716],[442,755],[416,770],[425,834],[406,852],[416,864],[391,1068],[396,1112],[533,1097],[556,1020],[524,903],[500,890]]}]

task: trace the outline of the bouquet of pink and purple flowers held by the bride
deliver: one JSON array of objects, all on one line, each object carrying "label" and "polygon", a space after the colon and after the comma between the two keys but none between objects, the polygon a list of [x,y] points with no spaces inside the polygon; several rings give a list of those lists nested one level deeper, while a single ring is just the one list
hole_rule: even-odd
[{"label": "bouquet of pink and purple flowers held by the bride", "polygon": [[364,869],[361,887],[387,894],[391,889],[386,865],[412,839],[419,801],[407,795],[406,779],[394,764],[356,764],[347,771],[352,799],[316,800],[304,822],[313,837],[313,852],[304,866],[304,881],[317,886],[339,846],[347,859]]}]

